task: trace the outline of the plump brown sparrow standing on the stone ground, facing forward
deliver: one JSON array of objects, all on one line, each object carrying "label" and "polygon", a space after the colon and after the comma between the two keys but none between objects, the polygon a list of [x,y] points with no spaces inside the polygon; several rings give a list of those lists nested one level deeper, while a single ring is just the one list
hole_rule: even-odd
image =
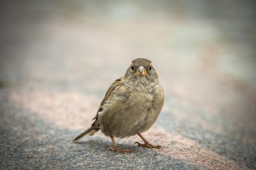
[{"label": "plump brown sparrow standing on the stone ground, facing forward", "polygon": [[114,137],[124,138],[139,135],[144,144],[135,142],[146,148],[161,148],[150,144],[142,135],[157,120],[164,105],[164,90],[159,84],[158,75],[150,60],[137,58],[132,60],[125,75],[115,80],[99,106],[92,126],[77,136],[74,141],[84,135],[93,135],[98,130],[109,136],[117,152],[132,152],[120,149]]}]

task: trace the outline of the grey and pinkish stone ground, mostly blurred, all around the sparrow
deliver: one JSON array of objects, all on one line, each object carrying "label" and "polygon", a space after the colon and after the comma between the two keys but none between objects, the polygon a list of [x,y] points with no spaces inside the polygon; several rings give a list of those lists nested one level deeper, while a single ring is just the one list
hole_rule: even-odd
[{"label": "grey and pinkish stone ground, mostly blurred, all around the sparrow", "polygon": [[[256,169],[254,1],[1,1],[1,169]],[[130,61],[153,61],[165,91],[139,137],[92,124]]]}]

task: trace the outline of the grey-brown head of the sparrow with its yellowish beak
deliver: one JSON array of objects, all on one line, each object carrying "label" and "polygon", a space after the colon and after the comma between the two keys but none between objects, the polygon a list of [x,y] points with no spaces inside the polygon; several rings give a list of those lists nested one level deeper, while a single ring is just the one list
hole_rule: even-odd
[{"label": "grey-brown head of the sparrow with its yellowish beak", "polygon": [[124,77],[129,82],[135,82],[135,84],[140,85],[149,85],[150,83],[158,82],[158,75],[152,62],[144,58],[132,60]]}]

